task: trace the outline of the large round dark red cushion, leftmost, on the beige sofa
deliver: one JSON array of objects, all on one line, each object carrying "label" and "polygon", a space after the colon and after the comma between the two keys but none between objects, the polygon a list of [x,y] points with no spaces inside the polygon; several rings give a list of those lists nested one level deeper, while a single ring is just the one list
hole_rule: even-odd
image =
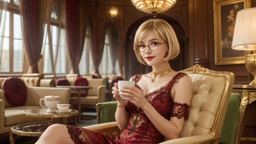
[{"label": "large round dark red cushion, leftmost, on the beige sofa", "polygon": [[13,106],[22,106],[27,99],[27,87],[25,83],[15,77],[9,77],[2,83],[5,99]]}]

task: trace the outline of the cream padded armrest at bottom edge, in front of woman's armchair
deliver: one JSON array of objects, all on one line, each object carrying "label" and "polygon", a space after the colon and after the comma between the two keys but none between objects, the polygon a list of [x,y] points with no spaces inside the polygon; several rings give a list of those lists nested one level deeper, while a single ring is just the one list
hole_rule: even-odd
[{"label": "cream padded armrest at bottom edge, in front of woman's armchair", "polygon": [[203,143],[215,141],[217,139],[219,139],[219,137],[216,138],[211,134],[203,134],[203,135],[197,135],[197,136],[189,136],[189,137],[172,139],[169,141],[162,142],[160,144],[199,144],[199,143],[203,144]]}]

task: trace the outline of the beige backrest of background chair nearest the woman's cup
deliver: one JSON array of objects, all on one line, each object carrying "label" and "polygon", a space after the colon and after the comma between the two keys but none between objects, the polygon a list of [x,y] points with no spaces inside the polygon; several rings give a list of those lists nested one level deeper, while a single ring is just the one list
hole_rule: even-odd
[{"label": "beige backrest of background chair nearest the woman's cup", "polygon": [[88,90],[88,96],[97,96],[98,87],[104,85],[104,79],[88,79],[90,87],[93,89]]}]

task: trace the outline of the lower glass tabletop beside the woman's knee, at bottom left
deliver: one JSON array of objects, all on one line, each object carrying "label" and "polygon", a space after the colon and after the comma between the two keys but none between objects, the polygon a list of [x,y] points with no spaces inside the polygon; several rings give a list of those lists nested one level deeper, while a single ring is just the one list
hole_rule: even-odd
[{"label": "lower glass tabletop beside the woman's knee, at bottom left", "polygon": [[11,132],[21,136],[41,136],[48,127],[48,122],[30,122],[11,127]]}]

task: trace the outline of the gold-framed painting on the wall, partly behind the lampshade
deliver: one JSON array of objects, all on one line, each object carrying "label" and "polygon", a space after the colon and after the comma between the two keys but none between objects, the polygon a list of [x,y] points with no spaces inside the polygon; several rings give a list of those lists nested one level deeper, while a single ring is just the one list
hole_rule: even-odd
[{"label": "gold-framed painting on the wall, partly behind the lampshade", "polygon": [[251,0],[213,0],[215,65],[244,64],[251,51],[231,49],[235,17]]}]

